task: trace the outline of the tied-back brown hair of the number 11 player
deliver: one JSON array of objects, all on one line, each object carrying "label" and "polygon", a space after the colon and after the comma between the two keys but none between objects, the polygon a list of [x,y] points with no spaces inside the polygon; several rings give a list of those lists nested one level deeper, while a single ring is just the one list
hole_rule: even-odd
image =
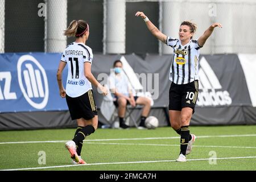
[{"label": "tied-back brown hair of the number 11 player", "polygon": [[85,20],[73,20],[67,30],[64,31],[64,35],[79,38],[84,35],[87,30],[89,30],[89,25]]}]

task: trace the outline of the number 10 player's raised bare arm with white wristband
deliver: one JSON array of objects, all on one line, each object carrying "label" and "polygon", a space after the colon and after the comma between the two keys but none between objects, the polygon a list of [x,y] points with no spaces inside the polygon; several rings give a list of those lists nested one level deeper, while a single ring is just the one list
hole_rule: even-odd
[{"label": "number 10 player's raised bare arm with white wristband", "polygon": [[161,40],[163,43],[167,43],[166,40],[167,40],[167,36],[164,35],[162,32],[160,32],[158,30],[158,28],[147,18],[147,16],[141,12],[141,11],[138,11],[135,16],[141,16],[141,18],[144,19],[145,23],[146,23],[146,26],[148,28],[148,30],[151,32],[151,34],[153,34],[156,38],[158,38],[159,40]]}]

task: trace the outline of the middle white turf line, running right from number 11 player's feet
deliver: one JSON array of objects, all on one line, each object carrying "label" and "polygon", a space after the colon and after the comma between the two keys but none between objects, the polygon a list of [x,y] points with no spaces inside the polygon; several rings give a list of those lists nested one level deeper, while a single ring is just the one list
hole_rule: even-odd
[{"label": "middle white turf line, running right from number 11 player's feet", "polygon": [[[180,146],[180,144],[152,144],[152,143],[101,143],[101,142],[86,142],[85,144],[121,144],[121,145],[138,145],[138,146]],[[218,148],[256,148],[245,146],[194,146],[193,147],[218,147]]]}]

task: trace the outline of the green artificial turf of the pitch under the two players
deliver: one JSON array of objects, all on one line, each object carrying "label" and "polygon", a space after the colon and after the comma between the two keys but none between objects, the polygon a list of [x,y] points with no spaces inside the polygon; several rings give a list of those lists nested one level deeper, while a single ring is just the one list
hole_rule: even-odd
[{"label": "green artificial turf of the pitch under the two players", "polygon": [[[75,130],[1,131],[0,170],[256,170],[254,125],[191,126],[191,133],[195,134],[197,139],[185,163],[175,162],[179,156],[180,139],[171,127],[159,127],[155,130],[98,129],[85,139],[82,148],[81,156],[88,165],[69,166],[71,159],[64,143],[73,138]],[[5,143],[28,141],[43,142]],[[39,164],[42,162],[40,151],[46,154],[46,164]],[[249,156],[251,158],[241,158]]]}]

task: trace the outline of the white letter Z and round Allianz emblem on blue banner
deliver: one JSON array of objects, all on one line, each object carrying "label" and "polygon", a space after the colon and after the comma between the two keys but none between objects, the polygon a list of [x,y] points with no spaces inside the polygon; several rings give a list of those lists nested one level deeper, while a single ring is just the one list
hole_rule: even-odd
[{"label": "white letter Z and round Allianz emblem on blue banner", "polygon": [[[49,98],[48,80],[46,71],[39,62],[30,55],[21,56],[17,63],[18,82],[26,101],[35,109],[46,107]],[[0,101],[16,100],[13,92],[11,72],[0,72]],[[17,90],[17,88],[15,88]]]}]

